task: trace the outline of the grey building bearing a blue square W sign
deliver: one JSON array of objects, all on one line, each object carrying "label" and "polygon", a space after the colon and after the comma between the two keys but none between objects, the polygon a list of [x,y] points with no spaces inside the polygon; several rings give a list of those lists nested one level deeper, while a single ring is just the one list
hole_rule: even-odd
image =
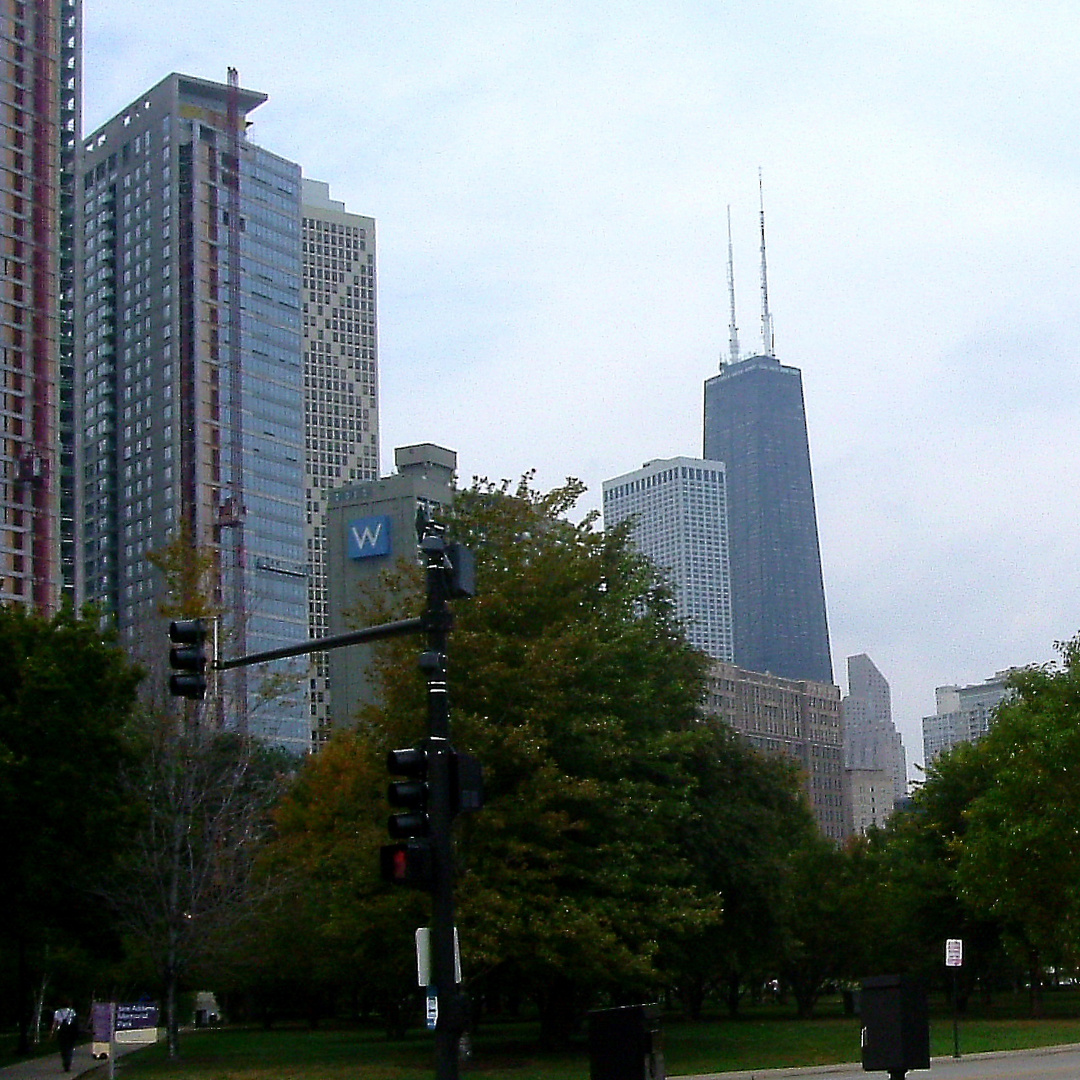
[{"label": "grey building bearing a blue square W sign", "polygon": [[[402,446],[394,450],[394,463],[397,472],[392,476],[327,492],[326,582],[332,634],[366,625],[360,621],[360,612],[366,599],[384,594],[381,576],[395,565],[417,562],[417,512],[423,510],[437,519],[454,500],[458,458],[453,450],[432,443]],[[333,688],[327,703],[329,730],[354,726],[357,710],[372,700],[370,649],[352,645],[328,653]]]}]

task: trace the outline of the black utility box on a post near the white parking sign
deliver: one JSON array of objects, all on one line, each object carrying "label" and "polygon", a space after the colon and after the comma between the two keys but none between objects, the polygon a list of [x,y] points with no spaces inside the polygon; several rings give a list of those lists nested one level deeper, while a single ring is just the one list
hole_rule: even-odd
[{"label": "black utility box on a post near the white parking sign", "polygon": [[909,975],[863,980],[863,1069],[901,1080],[930,1068],[930,1007],[926,987]]}]

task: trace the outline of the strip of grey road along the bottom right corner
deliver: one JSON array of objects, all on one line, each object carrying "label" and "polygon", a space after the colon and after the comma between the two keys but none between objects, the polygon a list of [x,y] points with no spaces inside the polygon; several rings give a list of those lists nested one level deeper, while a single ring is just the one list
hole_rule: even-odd
[{"label": "strip of grey road along the bottom right corner", "polygon": [[[907,1074],[907,1080],[1078,1080],[1080,1043],[1015,1050],[1008,1053],[935,1057],[928,1070]],[[710,1072],[680,1080],[877,1080],[887,1072],[864,1072],[861,1065],[822,1065],[815,1068],[754,1069]]]}]

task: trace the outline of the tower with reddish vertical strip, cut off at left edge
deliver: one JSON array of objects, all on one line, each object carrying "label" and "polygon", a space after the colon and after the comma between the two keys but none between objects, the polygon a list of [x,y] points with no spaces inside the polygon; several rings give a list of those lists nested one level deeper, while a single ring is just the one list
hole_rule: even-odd
[{"label": "tower with reddish vertical strip, cut off at left edge", "polygon": [[75,581],[72,383],[80,0],[0,0],[0,602]]}]

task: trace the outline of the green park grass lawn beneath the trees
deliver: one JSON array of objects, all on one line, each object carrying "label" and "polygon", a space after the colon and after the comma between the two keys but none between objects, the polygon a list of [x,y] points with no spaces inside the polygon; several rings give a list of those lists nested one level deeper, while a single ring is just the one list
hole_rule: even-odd
[{"label": "green park grass lawn beneath the trees", "polygon": [[[858,1018],[796,1021],[775,1009],[734,1022],[672,1020],[663,1025],[664,1057],[671,1076],[856,1062],[859,1029]],[[1080,1020],[993,1017],[960,1024],[963,1054],[1066,1042],[1080,1042]],[[390,1042],[373,1030],[225,1028],[185,1034],[181,1052],[181,1061],[170,1062],[159,1044],[123,1058],[120,1080],[430,1080],[433,1072],[432,1039],[419,1030]],[[931,1053],[953,1053],[946,1013],[932,1018]],[[99,1074],[104,1077],[104,1069]],[[540,1054],[534,1025],[491,1024],[481,1027],[462,1074],[483,1080],[588,1080],[589,1056],[583,1040],[568,1052]]]}]

